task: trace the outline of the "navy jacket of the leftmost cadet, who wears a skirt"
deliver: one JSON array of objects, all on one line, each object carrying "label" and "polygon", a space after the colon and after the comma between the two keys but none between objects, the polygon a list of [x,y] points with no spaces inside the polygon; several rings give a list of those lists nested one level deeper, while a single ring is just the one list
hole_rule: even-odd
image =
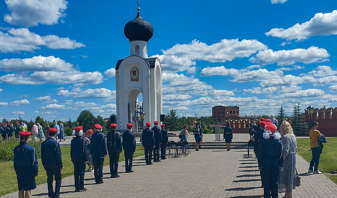
[{"label": "navy jacket of the leftmost cadet, who wears a skirt", "polygon": [[20,144],[14,148],[14,170],[16,172],[20,167],[33,167],[34,173],[37,176],[37,152],[35,148],[28,143],[26,143],[25,148],[21,151],[24,144],[25,142],[20,142]]}]

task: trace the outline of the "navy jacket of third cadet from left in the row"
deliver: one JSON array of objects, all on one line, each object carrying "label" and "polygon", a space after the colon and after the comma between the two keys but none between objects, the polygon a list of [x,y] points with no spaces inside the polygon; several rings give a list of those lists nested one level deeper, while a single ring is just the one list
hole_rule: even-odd
[{"label": "navy jacket of third cadet from left in the row", "polygon": [[86,144],[84,137],[77,135],[72,139],[70,144],[70,157],[72,158],[72,162],[88,162]]}]

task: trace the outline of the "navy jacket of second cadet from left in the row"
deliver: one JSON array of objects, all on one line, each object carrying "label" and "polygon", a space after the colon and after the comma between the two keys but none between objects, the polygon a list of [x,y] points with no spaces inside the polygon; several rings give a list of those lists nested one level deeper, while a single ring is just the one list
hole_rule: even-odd
[{"label": "navy jacket of second cadet from left in the row", "polygon": [[54,137],[49,137],[41,144],[41,161],[42,165],[58,165],[63,168],[61,158],[61,148]]}]

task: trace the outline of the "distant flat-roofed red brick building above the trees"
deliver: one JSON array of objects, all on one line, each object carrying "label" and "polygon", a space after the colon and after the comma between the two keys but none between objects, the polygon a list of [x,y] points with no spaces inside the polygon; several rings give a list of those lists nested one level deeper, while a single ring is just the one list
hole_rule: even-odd
[{"label": "distant flat-roofed red brick building above the trees", "polygon": [[223,123],[224,120],[239,120],[240,119],[240,107],[238,106],[214,106],[212,108],[213,121],[219,121]]}]

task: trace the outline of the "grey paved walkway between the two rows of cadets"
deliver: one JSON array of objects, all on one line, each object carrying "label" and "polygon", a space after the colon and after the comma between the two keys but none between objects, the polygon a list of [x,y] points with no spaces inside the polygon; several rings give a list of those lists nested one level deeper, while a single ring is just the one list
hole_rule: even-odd
[{"label": "grey paved walkway between the two rows of cadets", "polygon": [[[239,138],[239,136],[237,137]],[[246,138],[242,136],[241,138]],[[297,156],[301,186],[293,191],[294,198],[337,198],[337,185],[323,174],[305,174],[308,163]],[[95,185],[93,172],[85,173],[86,192],[74,193],[74,177],[62,179],[63,198],[262,198],[263,189],[257,160],[247,157],[247,150],[201,149],[187,157],[169,158],[145,165],[145,159],[134,160],[133,173],[123,173],[119,163],[119,178],[109,178],[105,166],[104,184]],[[46,198],[47,185],[37,186],[33,198]],[[279,194],[279,197],[284,194]],[[17,192],[6,198],[17,198]]]}]

